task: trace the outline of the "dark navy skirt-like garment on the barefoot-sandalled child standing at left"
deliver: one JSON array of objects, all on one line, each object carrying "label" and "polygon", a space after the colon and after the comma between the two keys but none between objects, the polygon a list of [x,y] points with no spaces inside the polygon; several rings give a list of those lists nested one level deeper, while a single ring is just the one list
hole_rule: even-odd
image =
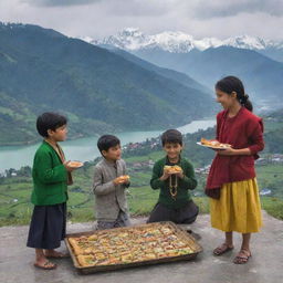
[{"label": "dark navy skirt-like garment on the barefoot-sandalled child standing at left", "polygon": [[27,245],[52,250],[61,245],[66,232],[66,203],[34,206]]}]

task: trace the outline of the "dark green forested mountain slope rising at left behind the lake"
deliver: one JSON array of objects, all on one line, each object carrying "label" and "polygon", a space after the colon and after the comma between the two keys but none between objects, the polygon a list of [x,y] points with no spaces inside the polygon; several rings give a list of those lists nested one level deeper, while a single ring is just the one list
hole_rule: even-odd
[{"label": "dark green forested mountain slope rising at left behind the lake", "polygon": [[0,144],[34,142],[45,111],[67,115],[71,137],[175,127],[213,111],[188,75],[38,25],[0,23]]}]

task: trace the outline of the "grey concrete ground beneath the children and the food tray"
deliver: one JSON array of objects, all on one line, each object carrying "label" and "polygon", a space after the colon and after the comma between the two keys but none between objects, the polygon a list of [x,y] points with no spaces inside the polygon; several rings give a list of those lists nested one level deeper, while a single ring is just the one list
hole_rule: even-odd
[{"label": "grey concrete ground beneath the children and the food tray", "polygon": [[[232,252],[213,256],[212,249],[222,242],[223,233],[211,229],[209,216],[200,216],[190,226],[201,235],[203,248],[193,261],[163,263],[158,265],[125,269],[91,275],[77,274],[71,259],[55,260],[56,270],[42,271],[33,268],[34,251],[25,247],[28,227],[0,228],[0,282],[1,283],[281,283],[283,282],[283,221],[263,211],[264,228],[252,237],[252,258],[248,264],[237,265],[232,260],[239,249],[241,237],[235,234]],[[145,219],[136,219],[144,223]],[[67,226],[67,232],[92,230],[92,223]],[[60,250],[65,250],[64,243]]]}]

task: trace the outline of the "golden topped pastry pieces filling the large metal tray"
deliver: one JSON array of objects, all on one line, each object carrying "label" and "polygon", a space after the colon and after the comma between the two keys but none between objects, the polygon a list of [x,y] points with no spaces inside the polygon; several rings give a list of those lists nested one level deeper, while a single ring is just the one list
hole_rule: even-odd
[{"label": "golden topped pastry pieces filling the large metal tray", "polygon": [[67,238],[82,268],[145,262],[195,253],[170,226],[130,227]]}]

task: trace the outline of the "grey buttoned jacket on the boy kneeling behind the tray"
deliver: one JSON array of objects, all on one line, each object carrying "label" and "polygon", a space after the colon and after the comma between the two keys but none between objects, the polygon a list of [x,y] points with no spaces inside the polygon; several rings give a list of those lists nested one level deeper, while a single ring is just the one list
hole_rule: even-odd
[{"label": "grey buttoned jacket on the boy kneeling behind the tray", "polygon": [[[117,169],[116,169],[117,168]],[[123,159],[114,163],[105,158],[94,169],[93,191],[95,195],[96,219],[99,221],[115,221],[119,210],[128,213],[125,196],[126,185],[115,186],[113,180],[126,175],[126,164]]]}]

